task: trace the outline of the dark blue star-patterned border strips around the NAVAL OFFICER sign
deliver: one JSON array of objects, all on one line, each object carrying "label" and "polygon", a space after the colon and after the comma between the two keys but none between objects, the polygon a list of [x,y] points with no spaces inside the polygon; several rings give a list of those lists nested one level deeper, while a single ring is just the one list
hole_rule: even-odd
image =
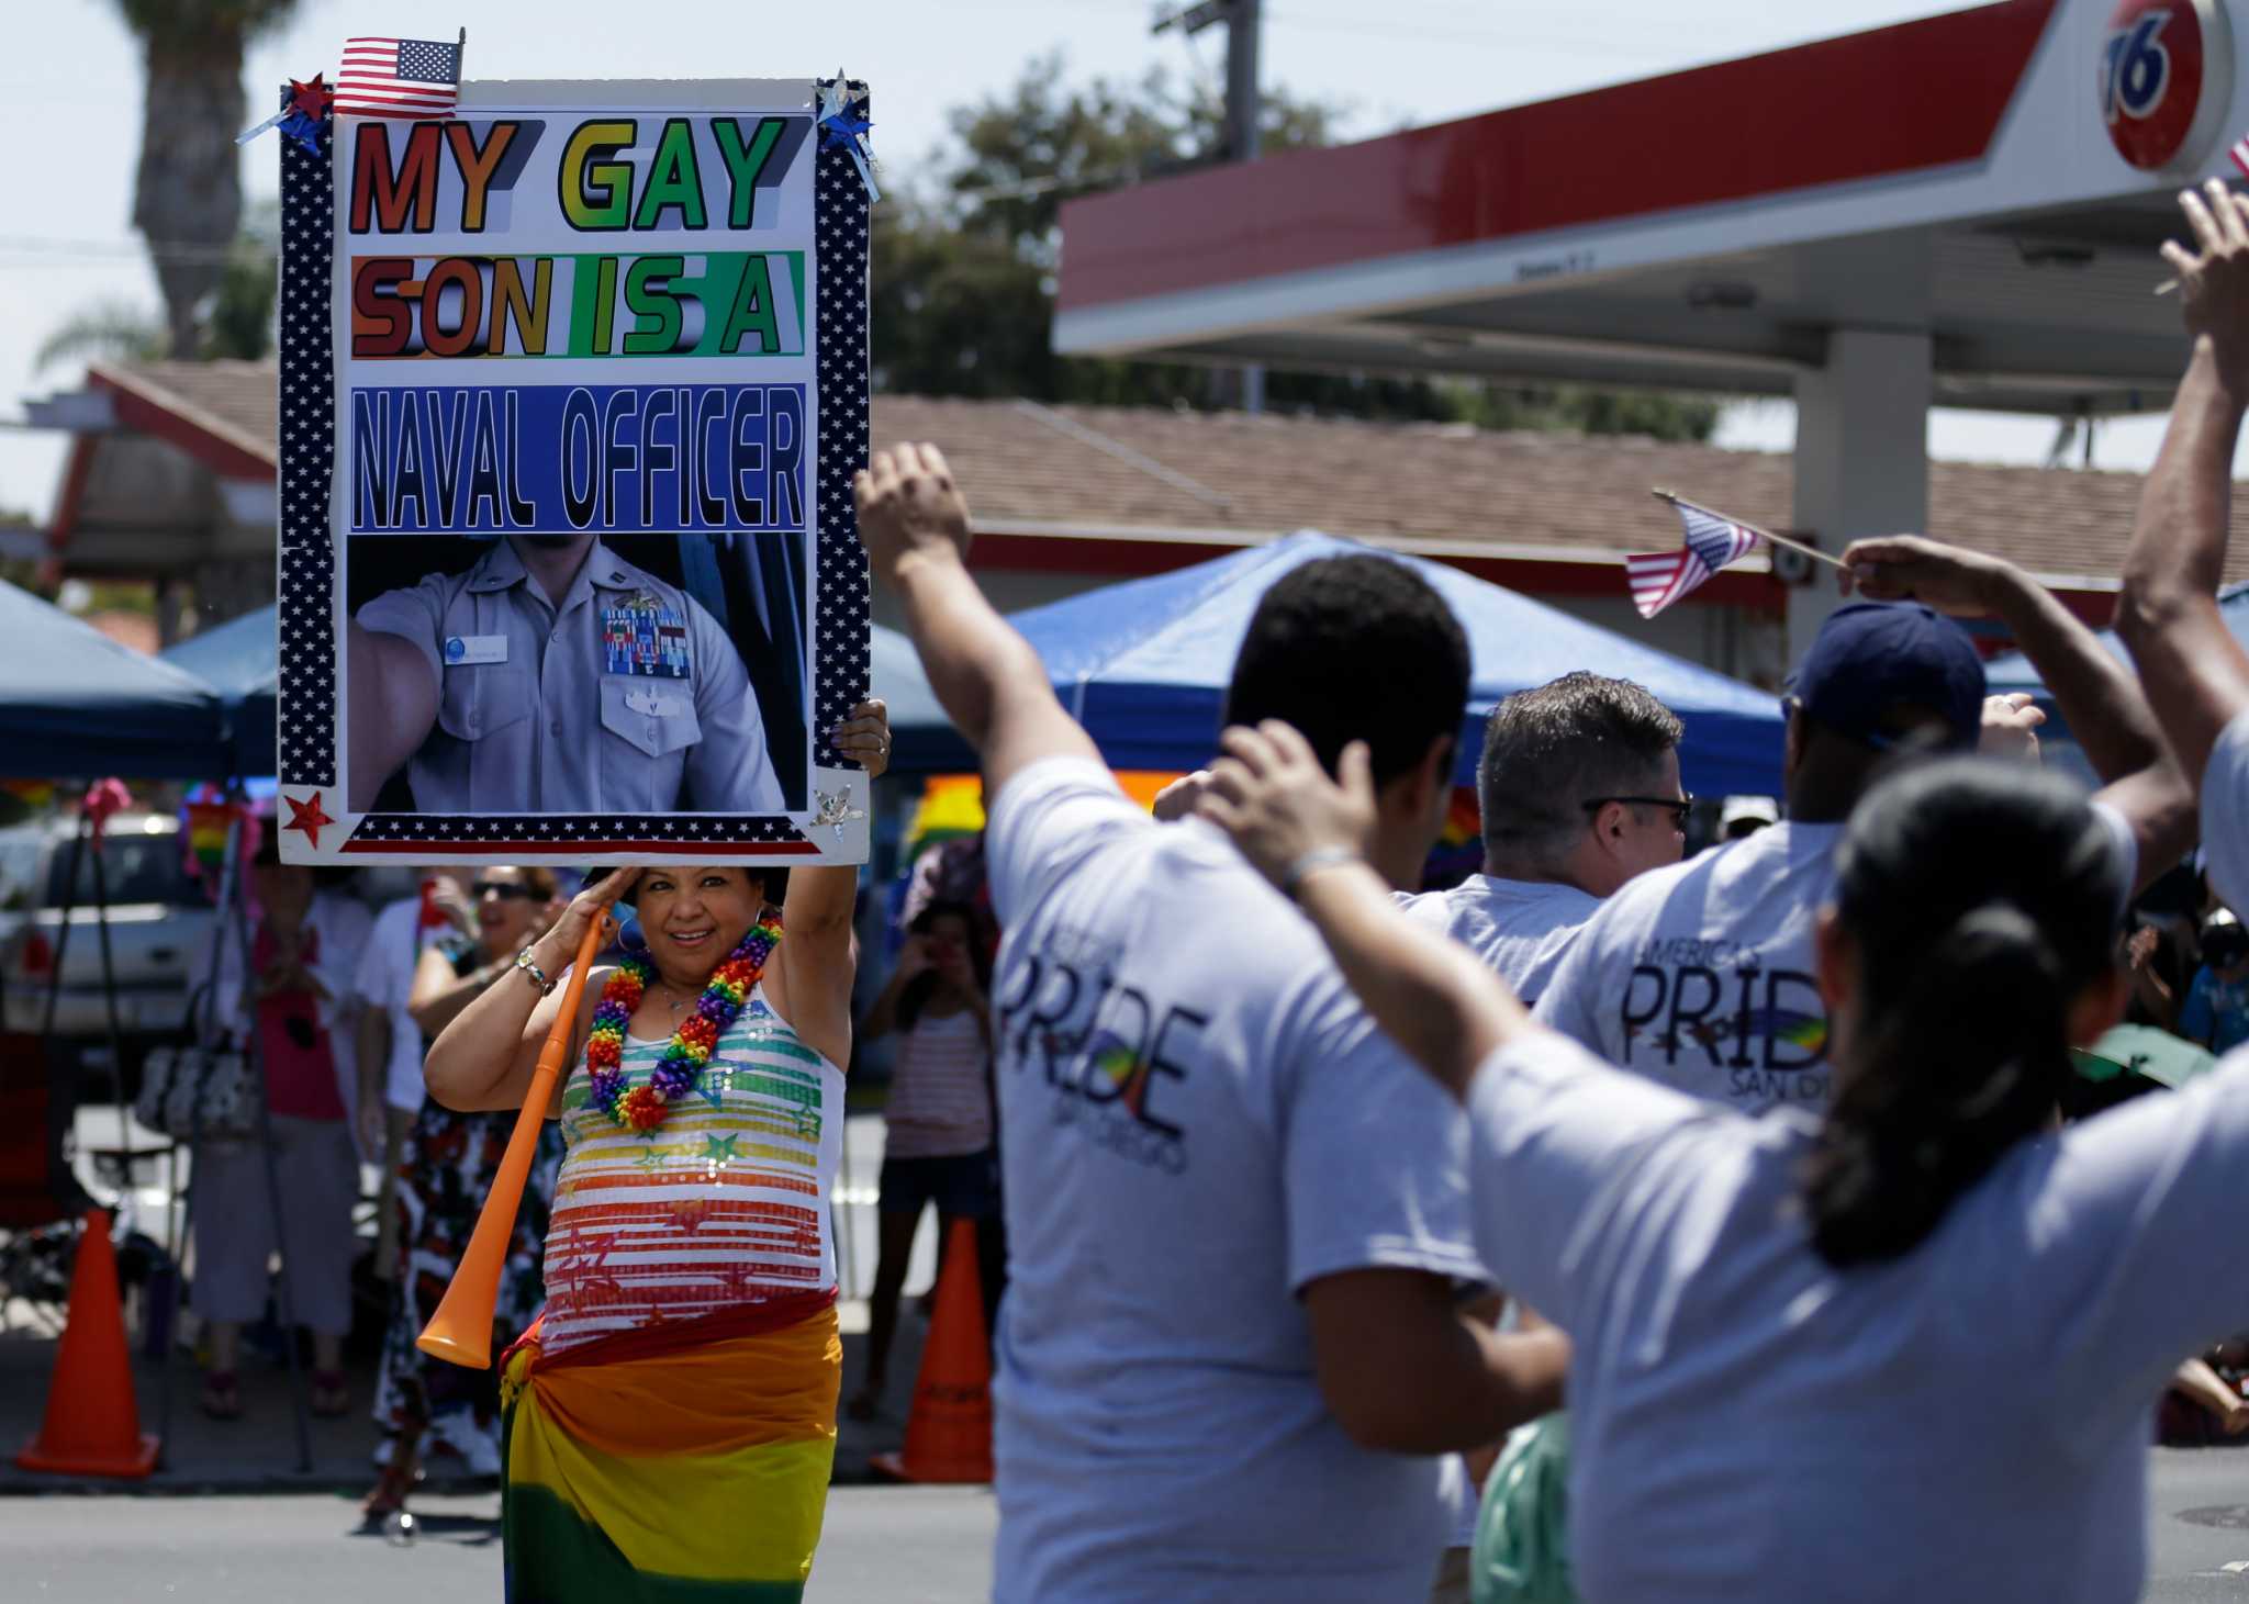
[{"label": "dark blue star-patterned border strips around the NAVAL OFFICER sign", "polygon": [[[832,79],[814,81],[814,92]],[[861,117],[866,85],[848,83]],[[288,85],[281,101],[288,103]],[[340,745],[335,675],[335,349],[328,322],[335,259],[335,115],[319,121],[319,155],[281,139],[281,785],[333,787]],[[868,461],[866,261],[868,198],[850,151],[812,153],[814,407],[819,479],[812,607],[812,740],[850,718],[868,693],[868,578],[852,475]],[[819,751],[823,767],[855,760]],[[810,781],[810,776],[807,776]],[[807,783],[810,790],[810,783]],[[810,796],[807,796],[810,801]],[[369,855],[582,857],[589,850],[666,850],[711,857],[812,857],[789,814],[362,814],[342,846]]]}]

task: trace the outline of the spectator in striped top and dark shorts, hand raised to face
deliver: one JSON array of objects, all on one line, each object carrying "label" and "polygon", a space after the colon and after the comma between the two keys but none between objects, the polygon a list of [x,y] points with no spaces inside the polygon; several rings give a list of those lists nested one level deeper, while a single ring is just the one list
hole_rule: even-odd
[{"label": "spectator in striped top and dark shorts, hand raised to face", "polygon": [[[992,965],[967,902],[929,902],[913,920],[891,981],[859,1026],[861,1042],[900,1035],[882,1114],[882,1204],[875,1291],[868,1298],[866,1377],[846,1411],[873,1420],[891,1379],[897,1300],[922,1210],[938,1208],[938,1246],[956,1219],[999,1210],[992,1147]],[[999,1287],[981,1276],[985,1330]]]}]

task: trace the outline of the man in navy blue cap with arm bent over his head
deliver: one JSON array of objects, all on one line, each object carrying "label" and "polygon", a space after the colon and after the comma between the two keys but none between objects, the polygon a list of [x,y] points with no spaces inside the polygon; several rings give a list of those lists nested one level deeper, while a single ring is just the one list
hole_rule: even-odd
[{"label": "man in navy blue cap with arm bent over his head", "polygon": [[1747,1114],[1828,1100],[1813,961],[1835,844],[1858,799],[1914,754],[1975,751],[1984,661],[1952,616],[1997,616],[2105,781],[2098,817],[2132,884],[2193,837],[2191,801],[2130,670],[2011,562],[1918,535],[1844,553],[1840,607],[1788,684],[1788,819],[1642,875],[1586,925],[1538,1019],[1613,1064]]}]

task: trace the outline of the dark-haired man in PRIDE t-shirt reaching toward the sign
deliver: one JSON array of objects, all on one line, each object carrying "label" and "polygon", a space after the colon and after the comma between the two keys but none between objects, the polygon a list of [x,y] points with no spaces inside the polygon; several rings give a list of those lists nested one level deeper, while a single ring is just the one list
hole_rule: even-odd
[{"label": "dark-haired man in PRIDE t-shirt reaching toward the sign", "polygon": [[[1010,1282],[994,1597],[1424,1597],[1439,1456],[1559,1402],[1568,1339],[1462,1318],[1462,1125],[1289,900],[1201,819],[1129,803],[963,562],[936,448],[877,452],[859,535],[990,794]],[[1370,859],[1444,817],[1469,652],[1381,558],[1264,596],[1228,715],[1372,742]],[[1316,864],[1298,866],[1298,877]]]}]

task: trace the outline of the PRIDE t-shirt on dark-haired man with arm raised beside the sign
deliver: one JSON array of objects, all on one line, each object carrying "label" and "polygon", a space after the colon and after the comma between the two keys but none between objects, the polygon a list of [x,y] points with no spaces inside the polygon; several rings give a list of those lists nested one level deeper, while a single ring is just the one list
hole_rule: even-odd
[{"label": "PRIDE t-shirt on dark-haired man with arm raised beside the sign", "polygon": [[1003,1604],[1428,1595],[1433,1458],[1327,1413],[1300,1289],[1480,1280],[1464,1116],[1201,821],[1037,763],[992,808]]}]

